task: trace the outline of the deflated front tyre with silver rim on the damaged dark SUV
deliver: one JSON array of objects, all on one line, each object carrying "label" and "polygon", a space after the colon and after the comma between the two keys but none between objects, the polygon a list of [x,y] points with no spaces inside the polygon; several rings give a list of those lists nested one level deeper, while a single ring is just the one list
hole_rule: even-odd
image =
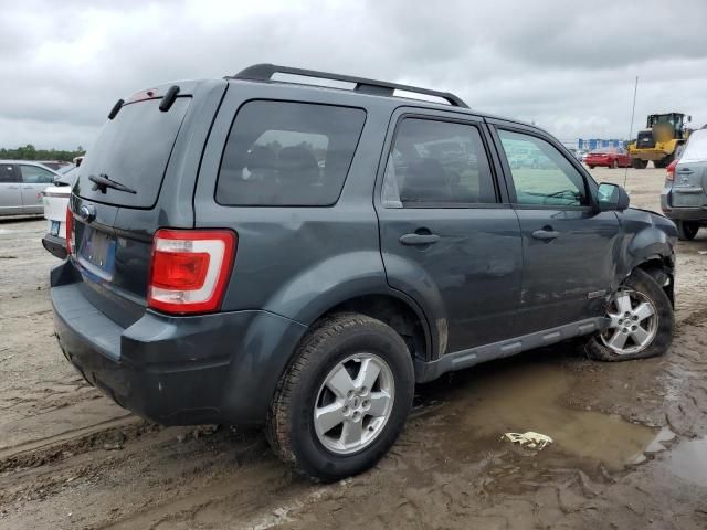
[{"label": "deflated front tyre with silver rim on the damaged dark SUV", "polygon": [[[625,300],[625,297],[629,295],[640,300],[635,305],[633,305],[632,300],[632,311],[636,310],[636,312],[641,312],[641,316],[636,315],[640,319],[637,322],[633,319],[633,316],[630,316],[625,320],[621,315],[619,315],[620,319],[616,318],[616,314],[621,311],[618,310],[619,306],[614,300],[618,298],[623,298]],[[640,309],[643,303],[648,303],[653,310],[652,315],[645,318],[645,320],[642,316],[646,315],[647,310],[641,311]],[[614,298],[608,308],[606,316],[612,319],[612,326],[605,331],[592,337],[587,344],[587,353],[592,359],[600,361],[627,361],[632,359],[645,359],[648,357],[662,356],[667,351],[673,342],[673,332],[675,329],[673,305],[657,282],[653,279],[653,276],[640,268],[634,269],[615,293]],[[614,326],[618,327],[614,328]],[[637,327],[641,327],[647,337],[647,341],[641,348],[635,347],[634,342],[637,343],[637,341],[633,338],[633,333],[631,331],[631,328]],[[612,339],[614,333],[620,336],[621,330],[625,330],[627,328],[631,333],[631,338],[625,341],[625,344],[621,349],[622,351],[616,351],[611,348],[609,344],[613,343]]]}]

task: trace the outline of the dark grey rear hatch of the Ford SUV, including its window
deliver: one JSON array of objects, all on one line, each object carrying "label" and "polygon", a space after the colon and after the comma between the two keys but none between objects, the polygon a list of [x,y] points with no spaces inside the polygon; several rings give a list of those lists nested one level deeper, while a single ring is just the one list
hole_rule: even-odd
[{"label": "dark grey rear hatch of the Ford SUV, including its window", "polygon": [[[178,96],[160,109],[171,86]],[[122,327],[145,312],[154,233],[193,227],[199,160],[226,86],[180,82],[134,95],[114,109],[81,166],[70,205],[72,263],[84,296]]]}]

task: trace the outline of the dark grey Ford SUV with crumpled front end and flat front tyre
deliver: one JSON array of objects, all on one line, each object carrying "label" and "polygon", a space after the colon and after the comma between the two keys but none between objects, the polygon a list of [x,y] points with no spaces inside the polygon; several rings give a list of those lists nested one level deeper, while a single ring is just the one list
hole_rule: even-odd
[{"label": "dark grey Ford SUV with crumpled front end and flat front tyre", "polygon": [[51,297],[66,358],[144,417],[264,424],[334,480],[394,443],[415,383],[579,336],[602,360],[671,343],[675,225],[537,127],[273,65],[108,118]]}]

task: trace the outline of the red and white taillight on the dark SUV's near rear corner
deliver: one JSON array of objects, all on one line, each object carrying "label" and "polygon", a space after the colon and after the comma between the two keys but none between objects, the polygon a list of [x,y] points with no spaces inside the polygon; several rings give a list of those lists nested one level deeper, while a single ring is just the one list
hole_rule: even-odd
[{"label": "red and white taillight on the dark SUV's near rear corner", "polygon": [[172,314],[215,311],[235,258],[238,237],[228,230],[158,230],[147,304]]}]

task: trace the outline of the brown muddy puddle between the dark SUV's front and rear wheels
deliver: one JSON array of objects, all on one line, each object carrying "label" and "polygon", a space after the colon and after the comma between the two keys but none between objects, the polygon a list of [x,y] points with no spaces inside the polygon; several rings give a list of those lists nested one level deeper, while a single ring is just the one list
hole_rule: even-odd
[{"label": "brown muddy puddle between the dark SUV's front and rear wheels", "polygon": [[[519,361],[477,367],[422,391],[418,414],[426,420],[436,416],[432,423],[445,451],[472,454],[509,448],[499,439],[504,433],[535,431],[555,441],[544,453],[620,470],[643,462],[644,452],[664,448],[656,438],[669,436],[658,428],[570,406],[574,393],[585,392],[588,383],[581,373],[567,370],[557,359]],[[429,414],[424,412],[428,403],[434,410]]]}]

